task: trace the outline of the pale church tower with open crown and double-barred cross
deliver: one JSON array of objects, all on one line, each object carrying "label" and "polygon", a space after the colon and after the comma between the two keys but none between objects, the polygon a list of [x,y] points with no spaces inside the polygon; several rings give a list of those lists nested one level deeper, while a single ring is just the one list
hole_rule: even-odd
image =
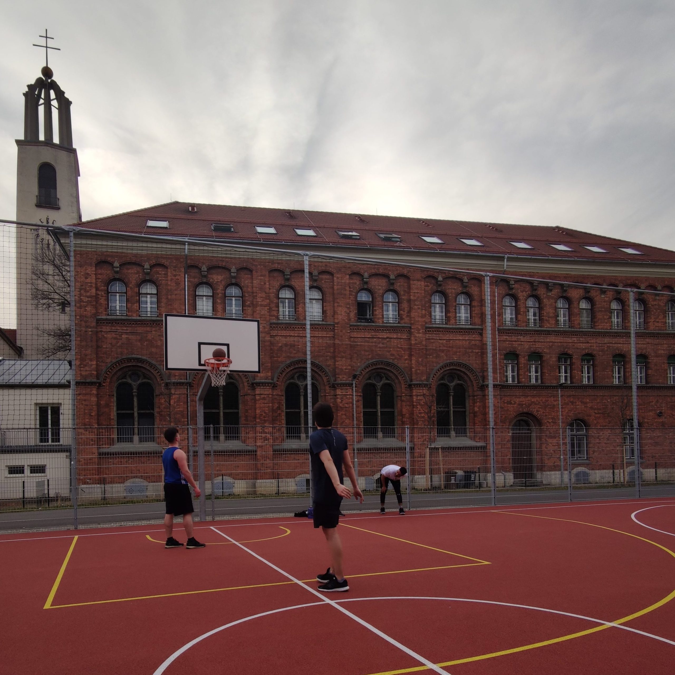
[{"label": "pale church tower with open crown and double-barred cross", "polygon": [[[52,39],[45,35],[47,39]],[[41,45],[36,45],[41,46]],[[47,49],[55,49],[47,47]],[[78,153],[73,147],[70,100],[49,65],[24,92],[24,138],[17,140],[16,219],[24,223],[71,225],[82,219]],[[57,128],[53,111],[57,111]],[[42,115],[40,114],[42,113]],[[41,119],[42,117],[42,119]],[[40,133],[42,121],[42,137]],[[55,133],[56,132],[56,133]],[[41,246],[54,246],[44,228],[16,229],[16,342],[24,358],[67,358],[53,350],[55,327],[67,327],[68,307],[36,301],[36,265],[45,265]],[[61,258],[61,263],[65,257]],[[65,260],[65,265],[68,261]],[[63,341],[62,341],[63,342]]]}]

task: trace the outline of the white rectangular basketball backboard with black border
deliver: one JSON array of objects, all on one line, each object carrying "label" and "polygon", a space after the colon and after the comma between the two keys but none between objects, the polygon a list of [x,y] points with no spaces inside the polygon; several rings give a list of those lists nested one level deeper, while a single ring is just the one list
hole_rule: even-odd
[{"label": "white rectangular basketball backboard with black border", "polygon": [[186,314],[164,315],[164,368],[205,371],[217,347],[232,359],[233,373],[260,373],[260,321]]}]

